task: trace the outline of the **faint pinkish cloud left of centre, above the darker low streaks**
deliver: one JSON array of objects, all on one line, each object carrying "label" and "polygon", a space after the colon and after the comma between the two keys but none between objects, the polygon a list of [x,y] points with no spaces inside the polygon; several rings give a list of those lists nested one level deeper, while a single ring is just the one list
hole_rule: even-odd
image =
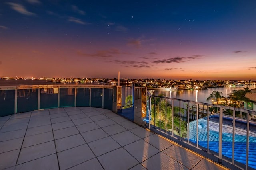
[{"label": "faint pinkish cloud left of centre, above the darker low streaks", "polygon": [[81,51],[76,52],[78,55],[82,55],[85,57],[101,57],[101,58],[112,58],[115,57],[116,55],[121,55],[121,54],[129,54],[126,52],[121,52],[119,49],[112,48],[109,50],[99,50],[96,51],[96,53],[88,54],[88,53],[82,53]]}]

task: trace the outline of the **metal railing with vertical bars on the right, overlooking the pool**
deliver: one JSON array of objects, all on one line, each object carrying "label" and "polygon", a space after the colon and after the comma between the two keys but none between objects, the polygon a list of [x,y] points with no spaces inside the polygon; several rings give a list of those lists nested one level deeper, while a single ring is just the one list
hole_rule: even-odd
[{"label": "metal railing with vertical bars on the right, overlooking the pool", "polygon": [[149,129],[212,154],[219,163],[256,168],[256,122],[250,120],[256,112],[163,96],[149,96],[148,108]]}]

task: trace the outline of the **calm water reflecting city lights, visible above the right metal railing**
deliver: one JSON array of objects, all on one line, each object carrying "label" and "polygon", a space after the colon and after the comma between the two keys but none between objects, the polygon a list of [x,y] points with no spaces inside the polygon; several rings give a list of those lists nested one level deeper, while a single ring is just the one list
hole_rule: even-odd
[{"label": "calm water reflecting city lights, visible above the right metal railing", "polygon": [[[250,86],[250,89],[256,88],[255,86]],[[212,91],[222,92],[222,96],[227,97],[228,94],[232,93],[233,90],[243,89],[243,87],[223,87],[223,88],[208,88],[201,90],[178,90],[178,91],[170,91],[170,90],[154,90],[155,95],[163,94],[166,97],[184,99],[184,100],[192,100],[196,102],[204,102],[211,104],[212,101],[206,101]]]}]

